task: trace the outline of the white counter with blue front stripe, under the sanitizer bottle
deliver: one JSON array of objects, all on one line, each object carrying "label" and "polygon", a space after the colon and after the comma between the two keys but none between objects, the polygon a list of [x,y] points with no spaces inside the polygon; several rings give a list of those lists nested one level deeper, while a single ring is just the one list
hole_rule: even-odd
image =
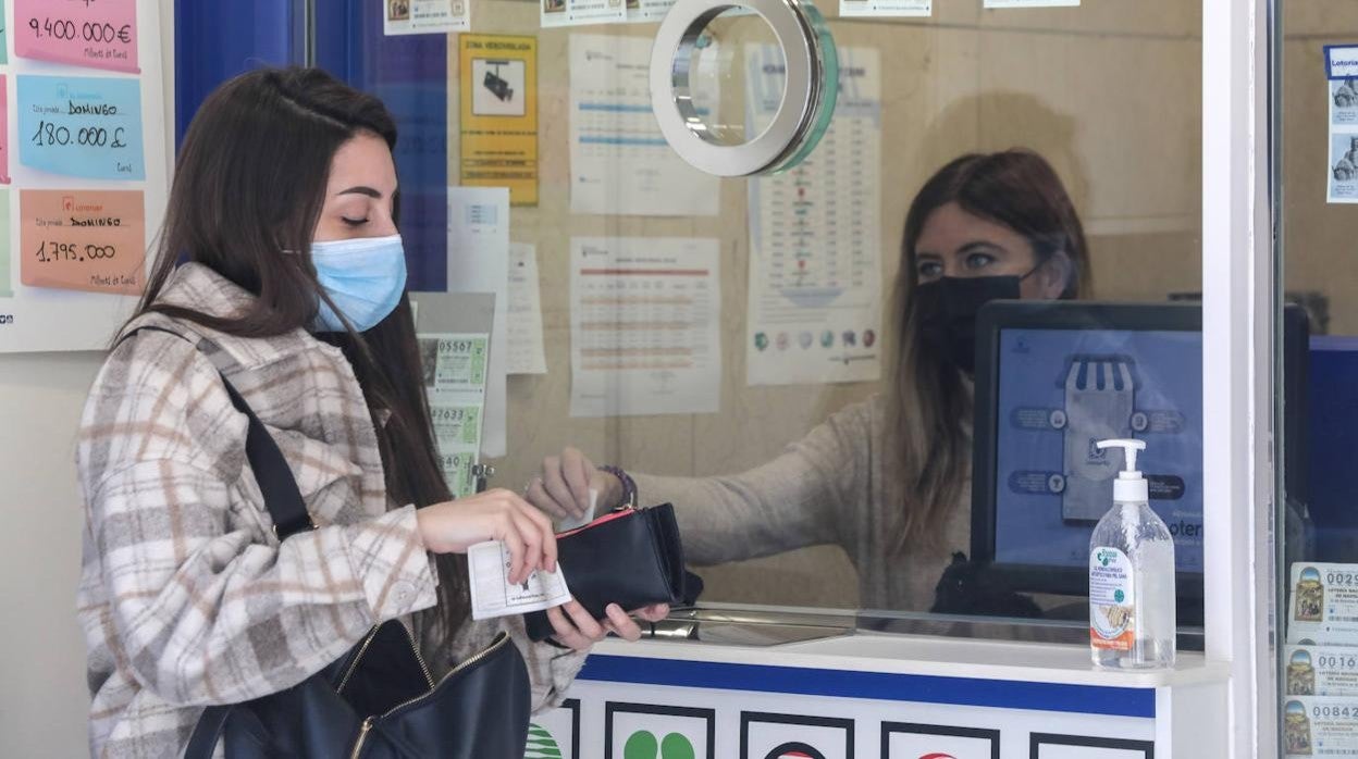
[{"label": "white counter with blue front stripe, under the sanitizer bottle", "polygon": [[606,641],[535,722],[585,759],[669,759],[664,740],[694,759],[1200,759],[1225,755],[1228,678],[1199,653],[1108,672],[1085,646],[923,635]]}]

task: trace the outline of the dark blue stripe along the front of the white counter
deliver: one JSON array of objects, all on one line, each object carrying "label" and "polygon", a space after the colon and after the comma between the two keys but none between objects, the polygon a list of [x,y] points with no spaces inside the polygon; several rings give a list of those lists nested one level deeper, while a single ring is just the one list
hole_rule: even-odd
[{"label": "dark blue stripe along the front of the white counter", "polygon": [[591,654],[585,660],[580,679],[1112,717],[1154,718],[1156,716],[1154,688],[1066,686],[603,654]]}]

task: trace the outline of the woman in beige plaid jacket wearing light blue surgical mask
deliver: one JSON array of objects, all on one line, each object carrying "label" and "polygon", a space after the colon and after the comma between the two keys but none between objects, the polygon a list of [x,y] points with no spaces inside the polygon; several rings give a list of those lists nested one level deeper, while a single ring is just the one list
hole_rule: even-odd
[{"label": "woman in beige plaid jacket wearing light blue surgical mask", "polygon": [[[470,619],[470,546],[504,542],[521,582],[554,568],[555,540],[513,493],[449,497],[405,291],[395,143],[382,102],[318,69],[239,76],[185,136],[145,296],[79,436],[95,755],[181,755],[205,706],[289,688],[388,619],[435,679],[508,631],[536,706],[606,633],[640,635],[617,606],[599,621],[574,601],[549,612],[549,644],[527,642],[520,618]],[[227,383],[314,530],[278,540]]]}]

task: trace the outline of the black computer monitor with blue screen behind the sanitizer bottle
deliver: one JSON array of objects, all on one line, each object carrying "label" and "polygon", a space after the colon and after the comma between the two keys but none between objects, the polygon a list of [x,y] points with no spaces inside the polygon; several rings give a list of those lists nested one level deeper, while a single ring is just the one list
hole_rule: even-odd
[{"label": "black computer monitor with blue screen behind the sanitizer bottle", "polygon": [[1146,441],[1150,506],[1175,536],[1180,621],[1202,619],[1202,310],[995,301],[976,323],[972,561],[1012,591],[1086,595],[1089,536],[1120,451]]}]

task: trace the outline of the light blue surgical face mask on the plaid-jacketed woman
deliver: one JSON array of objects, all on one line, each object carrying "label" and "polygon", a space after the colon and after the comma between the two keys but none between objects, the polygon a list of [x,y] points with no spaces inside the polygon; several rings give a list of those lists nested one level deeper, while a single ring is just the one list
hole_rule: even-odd
[{"label": "light blue surgical face mask on the plaid-jacketed woman", "polygon": [[[311,243],[316,281],[335,308],[360,333],[387,318],[406,289],[406,251],[401,235]],[[344,322],[320,301],[316,331],[342,333]]]}]

